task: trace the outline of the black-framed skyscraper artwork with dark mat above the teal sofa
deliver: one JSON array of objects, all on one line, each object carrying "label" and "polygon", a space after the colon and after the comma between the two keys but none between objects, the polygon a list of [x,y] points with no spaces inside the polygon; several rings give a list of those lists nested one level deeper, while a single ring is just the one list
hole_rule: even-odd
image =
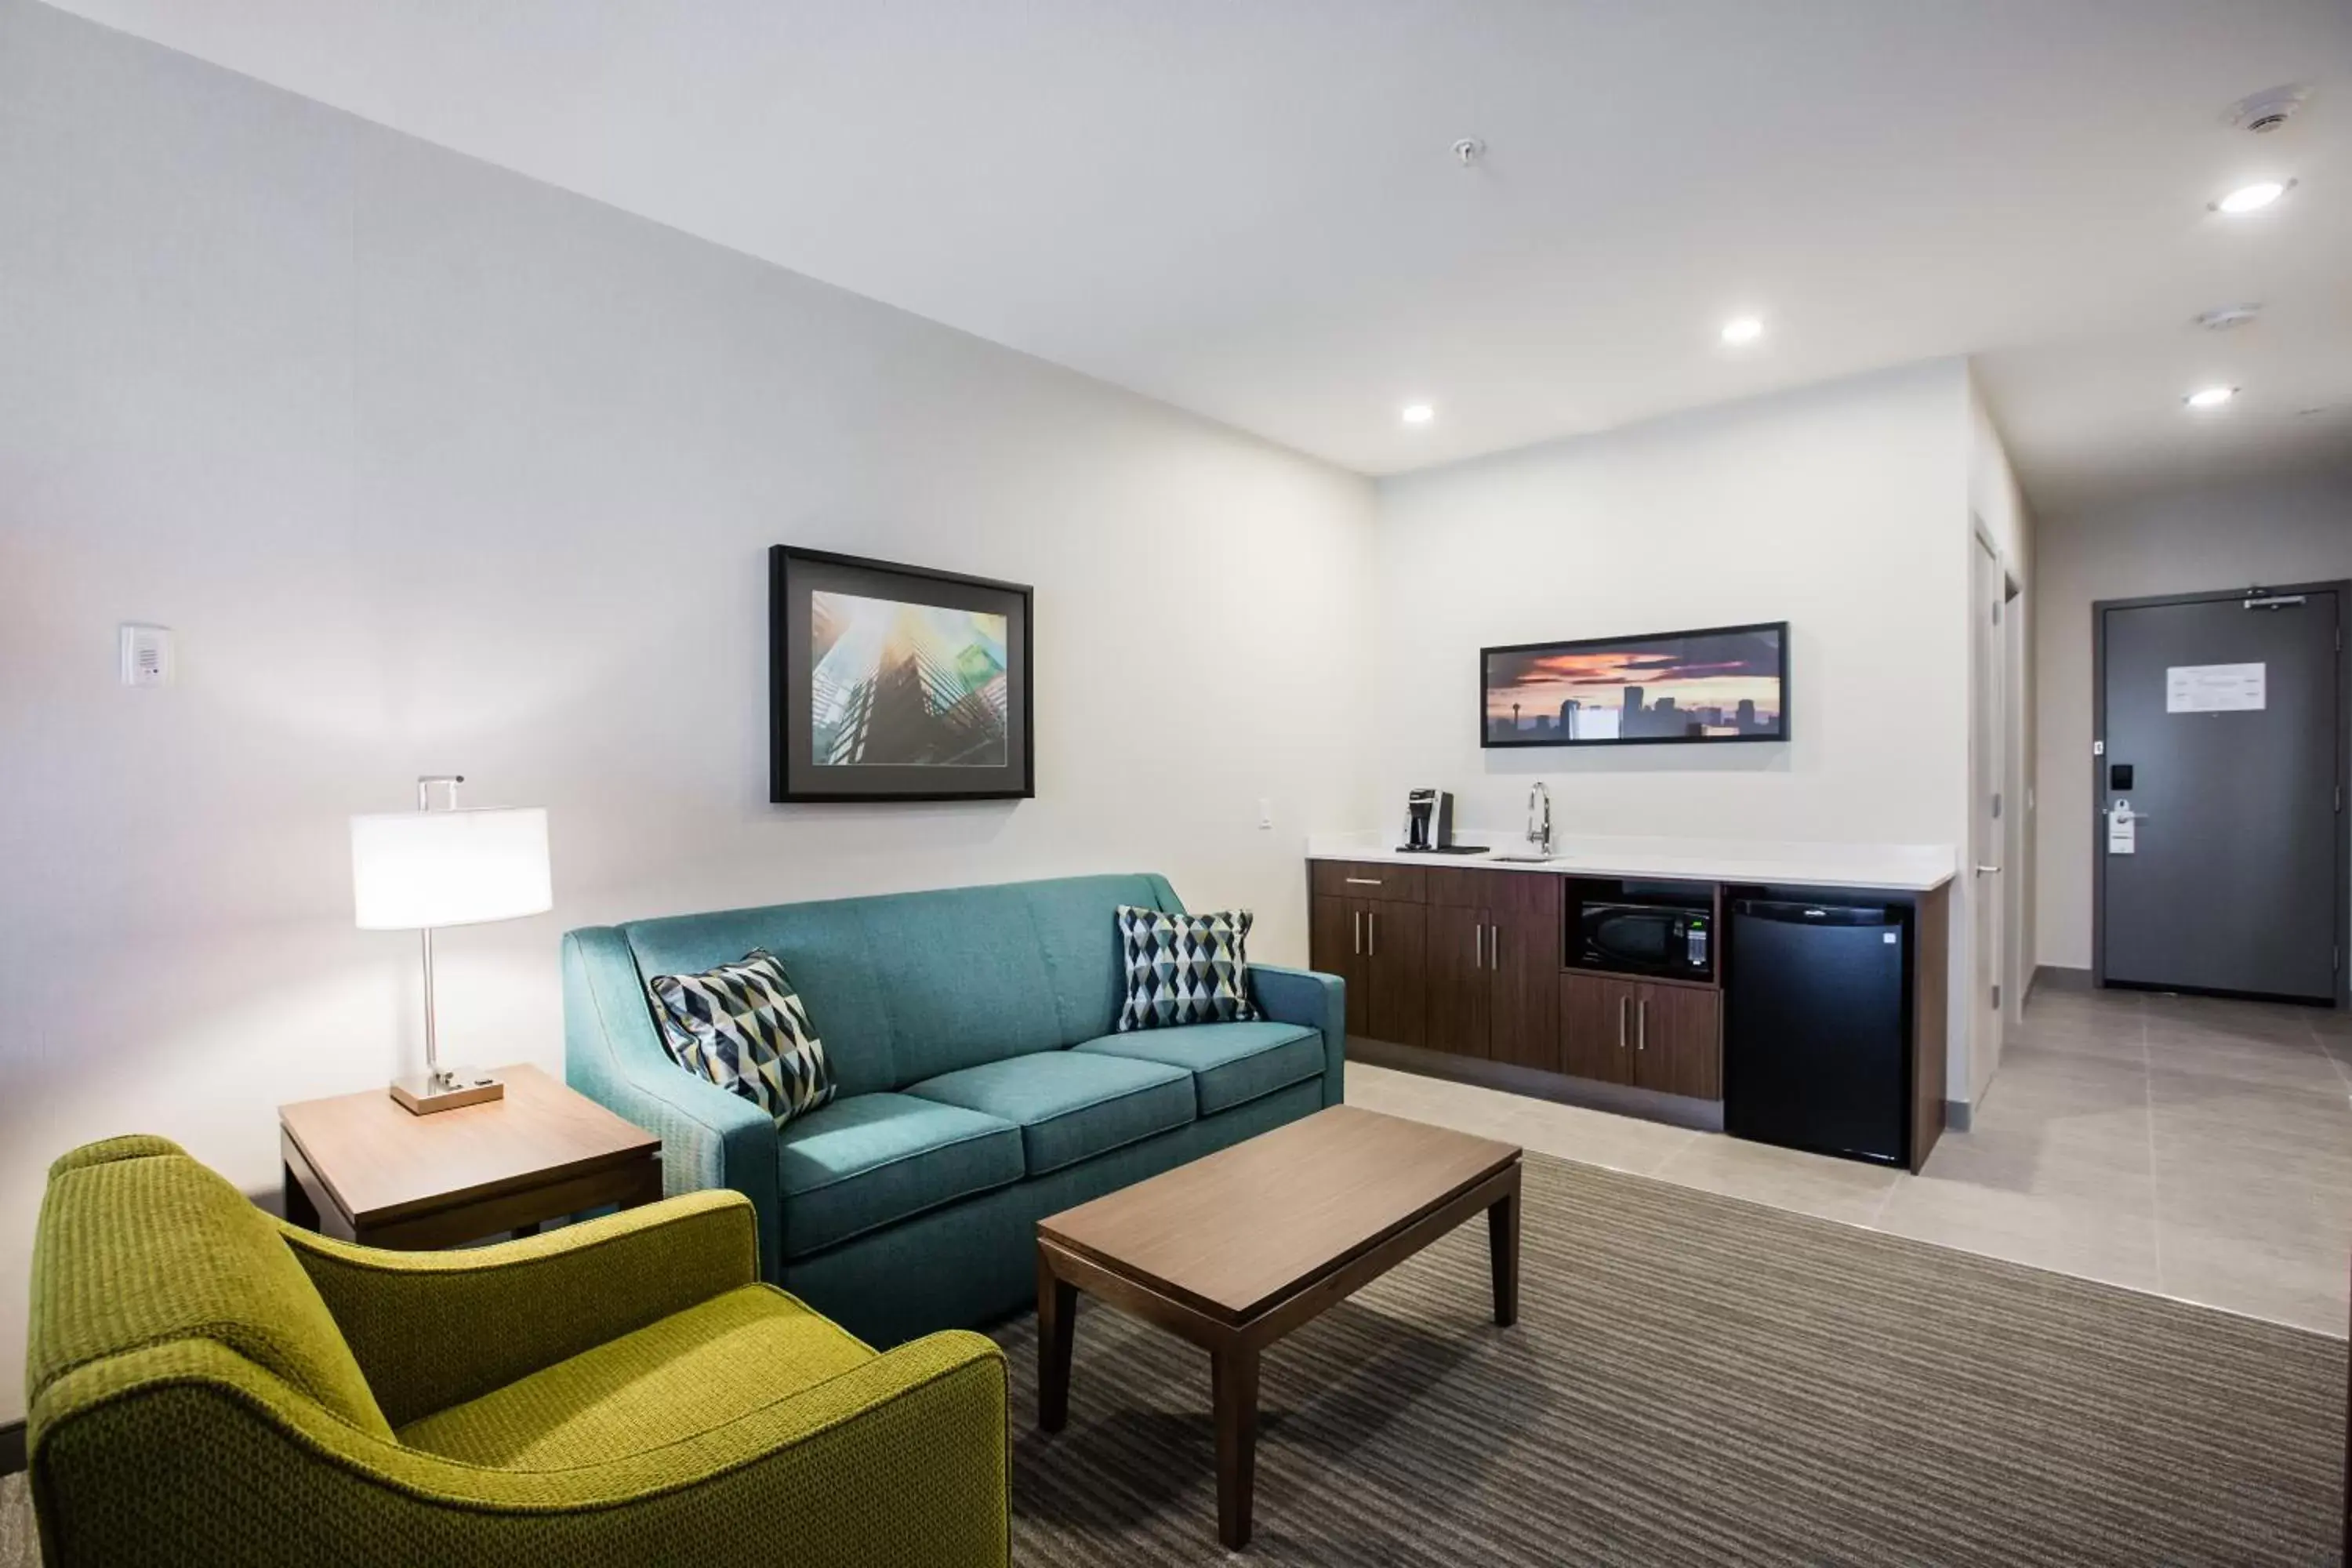
[{"label": "black-framed skyscraper artwork with dark mat above the teal sofa", "polygon": [[767,552],[769,799],[1028,799],[1025,583]]}]

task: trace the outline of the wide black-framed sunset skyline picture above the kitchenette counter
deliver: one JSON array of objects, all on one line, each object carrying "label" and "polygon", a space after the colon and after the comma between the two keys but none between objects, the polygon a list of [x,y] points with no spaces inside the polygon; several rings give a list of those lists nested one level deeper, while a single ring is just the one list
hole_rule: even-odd
[{"label": "wide black-framed sunset skyline picture above the kitchenette counter", "polygon": [[1479,649],[1479,745],[1788,741],[1788,621]]}]

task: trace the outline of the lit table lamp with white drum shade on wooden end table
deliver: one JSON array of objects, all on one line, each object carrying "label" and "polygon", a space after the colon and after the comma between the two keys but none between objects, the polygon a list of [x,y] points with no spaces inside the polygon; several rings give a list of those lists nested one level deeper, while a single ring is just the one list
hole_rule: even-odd
[{"label": "lit table lamp with white drum shade on wooden end table", "polygon": [[[548,813],[543,806],[459,809],[463,776],[416,780],[416,811],[350,818],[350,891],[360,931],[419,931],[426,959],[426,1072],[393,1079],[393,1098],[423,1117],[506,1098],[506,1084],[482,1072],[440,1065],[433,1020],[433,931],[555,907],[548,884]],[[433,809],[433,785],[449,804]]]}]

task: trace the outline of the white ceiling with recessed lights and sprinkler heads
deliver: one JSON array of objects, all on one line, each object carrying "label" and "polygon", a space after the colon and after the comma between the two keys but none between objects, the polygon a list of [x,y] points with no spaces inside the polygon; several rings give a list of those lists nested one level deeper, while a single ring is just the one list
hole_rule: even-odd
[{"label": "white ceiling with recessed lights and sprinkler heads", "polygon": [[1376,475],[1957,353],[2044,510],[2352,456],[2345,0],[68,9]]}]

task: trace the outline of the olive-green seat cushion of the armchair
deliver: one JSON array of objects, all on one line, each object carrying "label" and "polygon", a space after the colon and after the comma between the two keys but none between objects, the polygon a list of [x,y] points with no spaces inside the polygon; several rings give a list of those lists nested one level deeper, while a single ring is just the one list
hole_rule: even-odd
[{"label": "olive-green seat cushion of the armchair", "polygon": [[776,1286],[741,1286],[503,1389],[400,1441],[489,1469],[574,1469],[677,1443],[873,1361]]}]

